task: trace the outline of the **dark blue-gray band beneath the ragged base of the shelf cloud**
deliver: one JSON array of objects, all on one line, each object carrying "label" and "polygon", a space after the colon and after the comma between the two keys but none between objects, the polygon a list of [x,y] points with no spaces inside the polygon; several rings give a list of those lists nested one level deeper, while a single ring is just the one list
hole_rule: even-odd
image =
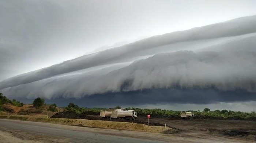
[{"label": "dark blue-gray band beneath the ragged base of the shelf cloud", "polygon": [[[154,88],[143,91],[96,94],[80,99],[57,98],[46,100],[46,102],[49,103],[57,103],[59,106],[67,106],[68,103],[73,102],[82,107],[113,107],[116,105],[132,105],[133,107],[137,107],[145,104],[216,104],[219,102],[248,101],[256,101],[255,93],[248,93],[242,90],[219,91],[212,88],[204,90]],[[24,102],[28,101],[24,100]],[[29,103],[30,102],[33,102],[33,100],[29,101]]]}]

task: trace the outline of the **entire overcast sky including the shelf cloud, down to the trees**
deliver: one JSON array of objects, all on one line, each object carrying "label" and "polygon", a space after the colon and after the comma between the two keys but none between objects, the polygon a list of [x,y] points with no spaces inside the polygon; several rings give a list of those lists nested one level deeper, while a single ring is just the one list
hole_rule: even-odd
[{"label": "entire overcast sky including the shelf cloud, down to the trees", "polygon": [[255,6],[255,0],[0,0],[0,92],[61,106],[106,107],[112,104],[102,101],[111,99],[123,106],[252,111]]}]

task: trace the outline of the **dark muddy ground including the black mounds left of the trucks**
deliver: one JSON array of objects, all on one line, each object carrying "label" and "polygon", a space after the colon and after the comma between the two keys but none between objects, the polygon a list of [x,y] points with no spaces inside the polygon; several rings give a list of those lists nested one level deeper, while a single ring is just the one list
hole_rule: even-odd
[{"label": "dark muddy ground including the black mounds left of the trucks", "polygon": [[[75,112],[60,112],[52,116],[52,118],[72,118],[72,119],[88,119],[88,120],[109,120],[102,119],[99,115],[90,115],[89,112],[77,114]],[[139,116],[137,120],[111,119],[117,122],[134,122],[147,124],[148,119]],[[176,129],[177,134],[181,135],[221,135],[233,136],[238,138],[247,138],[256,140],[256,122],[250,120],[219,120],[219,119],[192,119],[182,120],[176,118],[150,118],[151,126],[168,126]],[[173,133],[173,132],[172,132]],[[168,132],[166,132],[168,134]]]}]

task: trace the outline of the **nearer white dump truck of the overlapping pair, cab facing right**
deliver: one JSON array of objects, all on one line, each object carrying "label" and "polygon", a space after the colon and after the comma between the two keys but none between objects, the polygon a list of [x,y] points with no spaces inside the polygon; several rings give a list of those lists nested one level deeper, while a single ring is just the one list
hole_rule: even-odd
[{"label": "nearer white dump truck of the overlapping pair, cab facing right", "polygon": [[137,112],[134,110],[116,110],[112,111],[111,118],[118,118],[118,119],[137,119]]}]

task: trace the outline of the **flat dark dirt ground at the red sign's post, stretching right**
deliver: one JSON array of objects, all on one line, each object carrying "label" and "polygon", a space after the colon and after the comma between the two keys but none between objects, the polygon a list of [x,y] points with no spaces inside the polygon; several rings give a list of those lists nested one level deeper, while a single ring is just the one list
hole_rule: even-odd
[{"label": "flat dark dirt ground at the red sign's post, stretching right", "polygon": [[[147,121],[147,118],[139,120]],[[166,124],[180,130],[180,135],[221,135],[256,140],[256,122],[245,120],[171,120],[151,118],[150,122]]]}]

